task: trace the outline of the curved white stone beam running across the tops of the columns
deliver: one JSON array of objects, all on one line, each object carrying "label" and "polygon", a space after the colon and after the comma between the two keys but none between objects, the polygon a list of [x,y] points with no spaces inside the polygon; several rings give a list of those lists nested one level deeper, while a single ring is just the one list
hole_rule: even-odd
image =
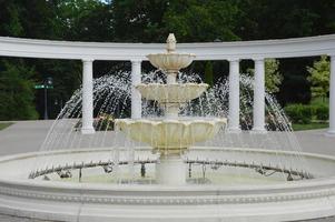
[{"label": "curved white stone beam running across the tops of the columns", "polygon": [[[0,56],[46,59],[147,60],[162,52],[160,43],[71,42],[0,37]],[[196,60],[294,58],[334,54],[335,34],[236,42],[178,43],[179,52],[197,54]]]}]

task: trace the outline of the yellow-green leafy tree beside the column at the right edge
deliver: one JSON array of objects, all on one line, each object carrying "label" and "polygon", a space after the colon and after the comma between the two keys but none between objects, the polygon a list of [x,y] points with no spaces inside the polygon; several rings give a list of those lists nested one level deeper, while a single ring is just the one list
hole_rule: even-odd
[{"label": "yellow-green leafy tree beside the column at the right edge", "polygon": [[311,82],[313,98],[326,98],[329,92],[329,61],[327,56],[322,56],[319,60],[313,63],[313,67],[307,67],[311,74],[307,80]]}]

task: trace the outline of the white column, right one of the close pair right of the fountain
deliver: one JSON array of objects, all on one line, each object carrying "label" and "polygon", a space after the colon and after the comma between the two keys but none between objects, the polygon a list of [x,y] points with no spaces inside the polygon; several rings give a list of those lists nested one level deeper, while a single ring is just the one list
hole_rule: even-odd
[{"label": "white column, right one of the close pair right of the fountain", "polygon": [[265,130],[265,64],[264,59],[255,60],[254,80],[254,132]]}]

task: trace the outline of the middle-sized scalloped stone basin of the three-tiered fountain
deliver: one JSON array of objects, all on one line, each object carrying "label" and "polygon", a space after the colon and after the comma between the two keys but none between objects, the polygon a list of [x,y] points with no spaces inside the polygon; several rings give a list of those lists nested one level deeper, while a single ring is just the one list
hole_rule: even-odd
[{"label": "middle-sized scalloped stone basin of the three-tiered fountain", "polygon": [[155,100],[159,103],[184,103],[200,97],[208,84],[206,83],[183,83],[183,84],[138,84],[136,89],[147,100]]}]

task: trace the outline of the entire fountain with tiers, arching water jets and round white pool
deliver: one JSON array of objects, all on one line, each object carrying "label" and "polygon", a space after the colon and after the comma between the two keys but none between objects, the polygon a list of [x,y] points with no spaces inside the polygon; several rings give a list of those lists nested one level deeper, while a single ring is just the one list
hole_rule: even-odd
[{"label": "entire fountain with tiers, arching water jets and round white pool", "polygon": [[[142,119],[121,119],[129,117],[130,75],[111,73],[93,81],[99,117],[95,134],[78,130],[79,89],[39,152],[1,157],[0,214],[71,222],[295,221],[334,215],[335,158],[302,152],[268,93],[268,132],[249,133],[254,81],[244,74],[242,131],[220,130],[226,125],[221,115],[228,112],[229,82],[208,89],[195,75],[183,75],[179,70],[195,56],[175,50],[170,34],[166,53],[148,56],[166,78],[144,74],[144,83],[136,85],[146,99]],[[114,114],[116,128],[109,125]]]}]

